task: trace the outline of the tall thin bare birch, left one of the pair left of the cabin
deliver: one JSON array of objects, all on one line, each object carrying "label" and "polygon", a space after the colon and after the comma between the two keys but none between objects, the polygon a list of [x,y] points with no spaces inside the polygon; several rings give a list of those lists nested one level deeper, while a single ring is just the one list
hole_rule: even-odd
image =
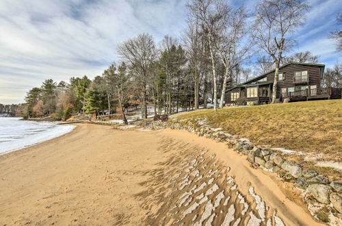
[{"label": "tall thin bare birch, left one of the pair left of the cabin", "polygon": [[213,73],[213,107],[217,110],[218,84],[215,68],[215,36],[216,32],[224,26],[226,10],[222,0],[191,0],[187,3],[189,9],[189,19],[198,21],[202,26],[203,33],[207,37],[209,53],[211,58],[211,69]]}]

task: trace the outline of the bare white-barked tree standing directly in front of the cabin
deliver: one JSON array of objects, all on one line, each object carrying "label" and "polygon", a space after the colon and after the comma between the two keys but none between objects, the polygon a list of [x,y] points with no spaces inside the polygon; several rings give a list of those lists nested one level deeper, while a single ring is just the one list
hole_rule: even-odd
[{"label": "bare white-barked tree standing directly in front of the cabin", "polygon": [[291,47],[289,34],[303,25],[308,4],[300,0],[263,0],[257,5],[254,39],[269,56],[274,66],[272,103],[276,101],[276,88],[282,53]]}]

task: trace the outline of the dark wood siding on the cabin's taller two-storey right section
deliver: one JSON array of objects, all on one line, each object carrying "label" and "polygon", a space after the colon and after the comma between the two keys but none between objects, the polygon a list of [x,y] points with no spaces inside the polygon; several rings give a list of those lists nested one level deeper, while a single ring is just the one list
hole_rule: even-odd
[{"label": "dark wood siding on the cabin's taller two-storey right section", "polygon": [[[298,64],[290,64],[283,68],[280,68],[279,73],[285,73],[285,80],[278,81],[277,88],[277,98],[280,98],[281,88],[290,88],[295,86],[314,86],[317,88],[320,86],[320,70],[319,66],[311,66],[311,65],[298,65]],[[308,83],[305,84],[294,84],[293,77],[295,72],[297,71],[308,71]],[[274,81],[274,72],[267,74],[267,81]]]}]

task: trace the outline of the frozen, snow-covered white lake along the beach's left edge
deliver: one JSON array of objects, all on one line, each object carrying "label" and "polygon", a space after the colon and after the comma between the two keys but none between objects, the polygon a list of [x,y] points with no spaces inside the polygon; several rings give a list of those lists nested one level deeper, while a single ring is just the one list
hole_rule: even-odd
[{"label": "frozen, snow-covered white lake along the beach's left edge", "polygon": [[0,155],[62,136],[75,128],[75,125],[20,119],[0,117]]}]

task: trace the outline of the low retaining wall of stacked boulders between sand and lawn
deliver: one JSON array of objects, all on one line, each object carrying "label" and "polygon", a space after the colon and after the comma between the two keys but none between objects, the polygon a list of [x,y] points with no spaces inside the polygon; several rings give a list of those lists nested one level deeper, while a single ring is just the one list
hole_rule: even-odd
[{"label": "low retaining wall of stacked boulders between sand and lawn", "polygon": [[205,136],[217,142],[226,142],[228,147],[237,153],[247,156],[247,160],[255,168],[277,173],[284,181],[302,191],[308,210],[319,221],[330,225],[342,222],[342,182],[329,181],[328,177],[319,175],[310,168],[288,161],[276,151],[269,151],[252,143],[246,138],[238,138],[220,128],[211,128],[198,121],[138,121],[134,125],[147,129],[179,129],[187,130],[198,136]]}]

